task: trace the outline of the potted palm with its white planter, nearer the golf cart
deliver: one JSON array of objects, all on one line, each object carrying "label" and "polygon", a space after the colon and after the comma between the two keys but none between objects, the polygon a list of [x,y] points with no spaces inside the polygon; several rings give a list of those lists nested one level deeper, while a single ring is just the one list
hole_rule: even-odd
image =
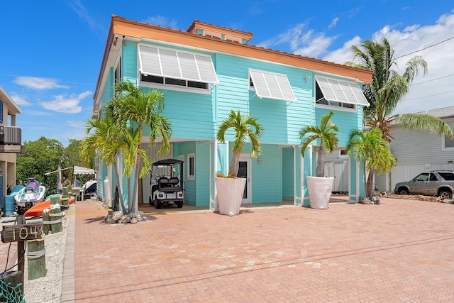
[{"label": "potted palm with its white planter, nearer the golf cart", "polygon": [[217,199],[219,204],[219,213],[233,216],[239,214],[241,200],[243,199],[246,179],[237,178],[240,167],[240,155],[246,139],[250,139],[252,152],[250,158],[257,158],[260,155],[261,146],[259,139],[262,136],[263,127],[258,122],[258,118],[251,115],[242,116],[240,111],[231,110],[228,118],[221,122],[218,128],[216,138],[221,143],[225,143],[225,134],[229,128],[235,132],[235,141],[233,141],[233,157],[228,167],[228,176],[218,174],[215,177],[217,190]]}]

